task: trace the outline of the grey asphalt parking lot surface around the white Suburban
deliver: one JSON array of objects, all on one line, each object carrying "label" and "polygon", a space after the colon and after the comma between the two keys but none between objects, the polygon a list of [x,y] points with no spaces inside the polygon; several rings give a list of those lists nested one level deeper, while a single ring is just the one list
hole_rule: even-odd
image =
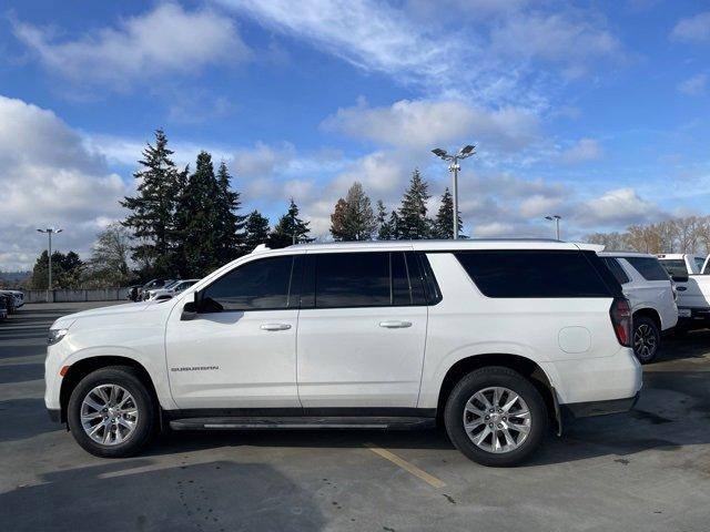
[{"label": "grey asphalt parking lot surface around the white Suburban", "polygon": [[101,305],[0,324],[1,530],[710,530],[710,331],[666,342],[632,412],[520,468],[477,466],[440,430],[181,432],[104,460],[43,402],[49,325]]}]

